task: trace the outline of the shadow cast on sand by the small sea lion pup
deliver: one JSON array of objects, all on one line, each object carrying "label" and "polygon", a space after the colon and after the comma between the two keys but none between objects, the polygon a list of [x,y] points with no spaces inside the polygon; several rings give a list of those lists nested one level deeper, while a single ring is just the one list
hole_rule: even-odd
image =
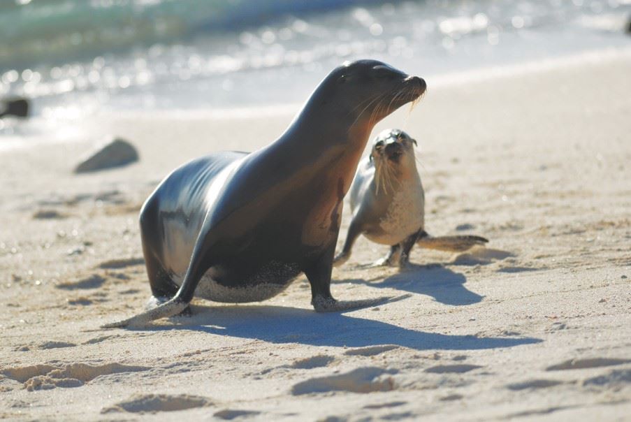
[{"label": "shadow cast on sand by the small sea lion pup", "polygon": [[467,277],[444,268],[440,264],[418,265],[409,263],[405,270],[387,277],[382,282],[368,282],[363,279],[345,279],[339,282],[365,284],[377,289],[397,289],[426,296],[445,305],[472,305],[484,298],[467,289]]}]

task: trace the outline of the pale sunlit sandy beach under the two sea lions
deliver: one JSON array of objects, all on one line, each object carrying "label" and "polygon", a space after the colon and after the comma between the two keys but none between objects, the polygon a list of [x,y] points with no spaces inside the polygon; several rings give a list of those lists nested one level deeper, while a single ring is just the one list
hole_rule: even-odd
[{"label": "pale sunlit sandy beach under the two sea lions", "polygon": [[[316,314],[300,277],[251,305],[194,302],[138,330],[138,209],[172,168],[255,150],[291,120],[256,112],[100,115],[140,162],[73,175],[89,142],[0,153],[0,418],[25,420],[631,419],[631,54],[440,83],[379,124],[419,140],[426,229],[488,248],[414,249],[411,268],[358,240]],[[484,73],[482,73],[484,75]],[[348,206],[340,246],[349,223]]]}]

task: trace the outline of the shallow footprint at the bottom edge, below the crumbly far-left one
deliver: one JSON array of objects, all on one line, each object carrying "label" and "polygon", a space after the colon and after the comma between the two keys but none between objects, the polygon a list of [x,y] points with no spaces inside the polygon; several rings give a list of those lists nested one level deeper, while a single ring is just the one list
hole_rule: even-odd
[{"label": "shallow footprint at the bottom edge, below the crumbly far-left one", "polygon": [[129,400],[119,402],[112,407],[106,407],[101,413],[130,412],[130,413],[157,413],[177,412],[179,410],[194,409],[196,407],[212,406],[212,402],[205,397],[197,395],[168,395],[147,394],[134,395]]}]

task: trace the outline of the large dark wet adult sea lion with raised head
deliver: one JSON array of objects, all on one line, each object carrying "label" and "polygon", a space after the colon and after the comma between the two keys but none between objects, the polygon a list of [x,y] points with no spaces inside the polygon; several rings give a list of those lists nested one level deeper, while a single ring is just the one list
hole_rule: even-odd
[{"label": "large dark wet adult sea lion with raised head", "polygon": [[301,272],[317,312],[388,300],[331,296],[342,201],[372,128],[425,90],[421,78],[381,61],[346,63],[324,78],[270,145],[251,154],[217,152],[177,168],[140,210],[147,275],[160,304],[104,328],[180,314],[194,296],[266,300]]}]

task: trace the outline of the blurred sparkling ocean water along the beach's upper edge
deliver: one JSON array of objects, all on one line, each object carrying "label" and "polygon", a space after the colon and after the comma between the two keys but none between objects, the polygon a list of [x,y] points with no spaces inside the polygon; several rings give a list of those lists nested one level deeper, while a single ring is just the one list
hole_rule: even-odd
[{"label": "blurred sparkling ocean water along the beach's upper edge", "polygon": [[[631,0],[3,0],[0,98],[34,119],[301,103],[346,60],[433,80],[631,47]],[[0,121],[0,137],[41,125]]]}]

